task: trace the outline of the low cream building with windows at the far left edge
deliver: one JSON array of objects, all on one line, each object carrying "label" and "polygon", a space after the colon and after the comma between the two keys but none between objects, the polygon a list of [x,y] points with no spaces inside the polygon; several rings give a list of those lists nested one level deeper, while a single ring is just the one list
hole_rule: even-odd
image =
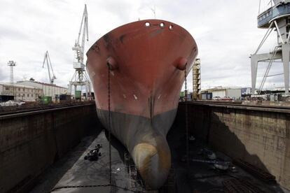
[{"label": "low cream building with windows at the far left edge", "polygon": [[26,85],[0,83],[0,101],[36,101],[43,96],[43,90]]}]

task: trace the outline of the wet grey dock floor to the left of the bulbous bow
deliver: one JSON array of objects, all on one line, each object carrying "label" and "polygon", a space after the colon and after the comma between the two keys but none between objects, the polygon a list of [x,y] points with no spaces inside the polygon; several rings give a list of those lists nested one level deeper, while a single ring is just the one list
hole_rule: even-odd
[{"label": "wet grey dock floor to the left of the bulbous bow", "polygon": [[[112,137],[112,185],[109,185],[109,141],[104,130],[82,139],[68,155],[57,161],[39,178],[36,192],[136,192],[141,188],[130,178],[124,164],[125,148]],[[96,161],[85,160],[85,155],[102,144],[102,155]],[[132,186],[134,184],[134,186]]]}]

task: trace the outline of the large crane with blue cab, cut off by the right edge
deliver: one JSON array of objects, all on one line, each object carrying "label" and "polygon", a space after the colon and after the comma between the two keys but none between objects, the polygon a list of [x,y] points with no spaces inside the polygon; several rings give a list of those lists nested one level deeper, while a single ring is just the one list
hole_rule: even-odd
[{"label": "large crane with blue cab, cut off by the right edge", "polygon": [[[258,28],[268,29],[265,36],[263,37],[260,45],[256,52],[251,55],[251,87],[252,92],[255,94],[256,91],[256,78],[258,70],[258,62],[268,62],[267,69],[265,70],[263,80],[260,87],[258,88],[258,94],[261,94],[265,80],[270,76],[284,75],[284,87],[285,94],[289,93],[289,57],[290,57],[290,1],[289,0],[272,0],[270,1],[271,7],[264,10],[258,15]],[[268,5],[270,5],[268,3]],[[272,4],[274,3],[274,4]],[[259,5],[260,11],[261,3]],[[275,29],[277,31],[277,45],[274,49],[268,53],[258,54],[263,43],[267,40],[270,33]],[[281,59],[277,61],[277,59]],[[274,62],[283,62],[284,73],[278,73],[269,75],[270,68]]]}]

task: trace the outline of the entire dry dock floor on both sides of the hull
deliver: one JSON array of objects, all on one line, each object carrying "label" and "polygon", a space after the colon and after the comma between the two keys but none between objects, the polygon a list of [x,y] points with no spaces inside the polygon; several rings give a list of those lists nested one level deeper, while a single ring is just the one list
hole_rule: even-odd
[{"label": "entire dry dock floor on both sides of the hull", "polygon": [[[173,125],[167,140],[172,151],[172,168],[174,173],[174,185],[170,190],[160,192],[226,192],[223,181],[228,179],[249,180],[262,192],[287,192],[277,184],[267,184],[246,173],[238,166],[237,172],[219,171],[213,168],[213,164],[202,162],[189,162],[186,160],[186,141],[184,129]],[[85,155],[102,144],[101,157],[97,161],[85,160]],[[82,139],[81,143],[71,150],[65,157],[58,160],[50,169],[47,169],[39,177],[37,184],[31,193],[36,192],[145,192],[138,176],[130,176],[128,161],[125,159],[125,147],[112,137],[111,160],[112,160],[112,185],[109,186],[109,141],[108,134],[104,130],[96,130],[90,136]],[[195,139],[190,143],[190,159],[207,160],[205,155],[200,154],[202,148],[209,147],[205,142]],[[215,151],[214,151],[215,152]],[[231,159],[221,152],[215,152],[219,160]],[[132,160],[131,160],[132,161]],[[149,191],[147,191],[149,192]]]}]

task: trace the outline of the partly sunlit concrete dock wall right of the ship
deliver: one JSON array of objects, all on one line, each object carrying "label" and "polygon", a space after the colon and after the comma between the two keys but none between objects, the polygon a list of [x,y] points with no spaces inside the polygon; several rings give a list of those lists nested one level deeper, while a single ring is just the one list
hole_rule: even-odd
[{"label": "partly sunlit concrete dock wall right of the ship", "polygon": [[[290,112],[268,108],[188,103],[190,133],[213,148],[240,158],[274,175],[290,190]],[[179,104],[177,122],[185,122]],[[184,125],[183,125],[184,128]]]}]

